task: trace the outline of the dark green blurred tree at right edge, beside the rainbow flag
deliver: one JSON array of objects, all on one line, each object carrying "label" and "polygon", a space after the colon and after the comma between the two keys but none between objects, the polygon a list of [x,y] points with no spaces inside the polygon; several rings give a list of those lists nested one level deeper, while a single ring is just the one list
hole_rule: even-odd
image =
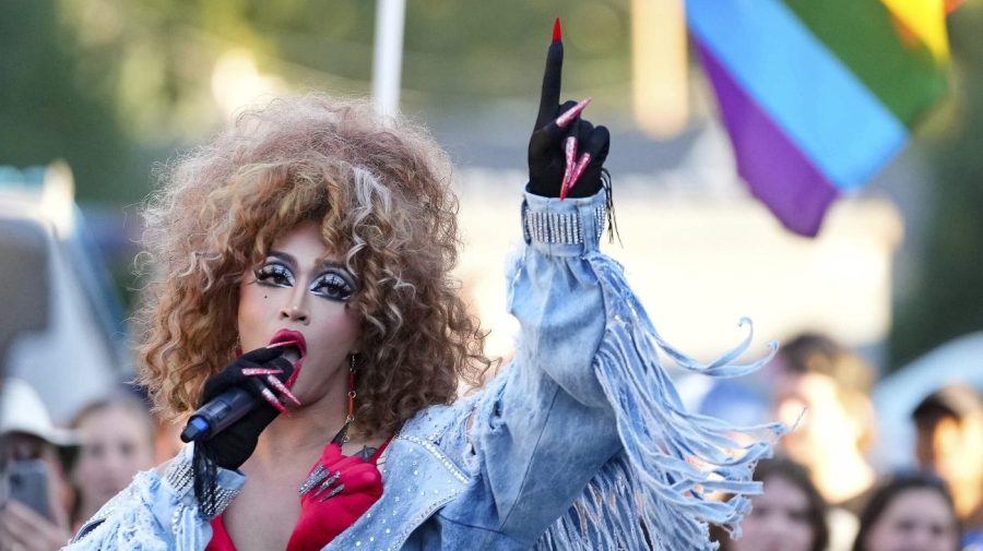
[{"label": "dark green blurred tree at right edge, beside the rainbow flag", "polygon": [[890,336],[893,367],[948,339],[983,330],[983,4],[949,16],[957,115],[929,143],[935,205],[912,297],[900,304]]}]

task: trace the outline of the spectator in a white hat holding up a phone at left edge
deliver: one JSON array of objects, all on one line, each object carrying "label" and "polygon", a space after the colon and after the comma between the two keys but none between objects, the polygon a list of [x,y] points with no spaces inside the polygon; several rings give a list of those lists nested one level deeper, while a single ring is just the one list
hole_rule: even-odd
[{"label": "spectator in a white hat holding up a phone at left edge", "polygon": [[[66,472],[79,444],[73,431],[55,427],[31,385],[19,379],[0,381],[0,470],[7,487],[0,499],[0,551],[51,551],[68,541],[71,490]],[[11,476],[19,465],[37,466],[43,472],[39,480],[46,494],[22,496],[37,498],[35,503],[24,503],[13,493]]]}]

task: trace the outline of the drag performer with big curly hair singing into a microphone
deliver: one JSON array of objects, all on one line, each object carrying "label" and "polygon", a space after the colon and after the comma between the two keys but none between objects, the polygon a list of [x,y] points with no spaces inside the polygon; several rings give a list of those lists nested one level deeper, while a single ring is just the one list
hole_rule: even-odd
[{"label": "drag performer with big curly hair singing into a microphone", "polygon": [[138,475],[69,548],[680,551],[735,527],[781,429],[737,444],[687,414],[658,351],[711,375],[760,361],[732,364],[749,334],[706,366],[671,348],[600,252],[609,136],[559,104],[561,64],[557,25],[514,360],[460,399],[488,361],[450,275],[451,170],[421,129],[309,95],[182,158],[147,211],[143,379],[178,414],[229,387],[263,402]]}]

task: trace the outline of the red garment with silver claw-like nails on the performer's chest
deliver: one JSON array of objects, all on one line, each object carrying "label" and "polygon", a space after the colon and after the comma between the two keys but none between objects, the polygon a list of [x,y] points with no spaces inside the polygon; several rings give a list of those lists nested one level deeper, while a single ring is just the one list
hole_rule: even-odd
[{"label": "red garment with silver claw-like nails on the performer's chest", "polygon": [[[324,446],[301,488],[300,517],[287,542],[287,551],[323,548],[379,500],[382,476],[376,462],[387,445],[389,440],[368,460],[343,455],[336,442]],[[236,551],[222,516],[212,519],[212,540],[205,551]]]}]

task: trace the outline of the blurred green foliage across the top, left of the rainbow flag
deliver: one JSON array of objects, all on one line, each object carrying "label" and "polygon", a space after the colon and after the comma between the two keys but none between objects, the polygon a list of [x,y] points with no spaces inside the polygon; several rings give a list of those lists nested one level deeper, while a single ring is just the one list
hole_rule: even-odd
[{"label": "blurred green foliage across the top, left of the rainbow flag", "polygon": [[[370,92],[375,1],[9,0],[0,3],[0,164],[63,157],[80,197],[131,202],[151,159],[222,122],[216,63],[248,52],[287,89]],[[568,28],[567,89],[627,104],[627,0],[407,2],[403,107],[533,101],[553,17]],[[583,84],[582,84],[583,83]]]}]

